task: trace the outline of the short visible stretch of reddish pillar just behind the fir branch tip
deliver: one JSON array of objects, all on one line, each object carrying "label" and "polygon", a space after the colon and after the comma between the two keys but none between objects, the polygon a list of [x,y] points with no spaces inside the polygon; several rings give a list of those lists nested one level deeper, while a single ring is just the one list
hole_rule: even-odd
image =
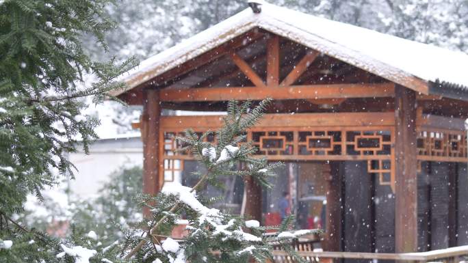
[{"label": "short visible stretch of reddish pillar just behind the fir branch tip", "polygon": [[246,192],[246,210],[244,214],[250,219],[261,222],[261,185],[252,176],[246,176],[244,181]]}]

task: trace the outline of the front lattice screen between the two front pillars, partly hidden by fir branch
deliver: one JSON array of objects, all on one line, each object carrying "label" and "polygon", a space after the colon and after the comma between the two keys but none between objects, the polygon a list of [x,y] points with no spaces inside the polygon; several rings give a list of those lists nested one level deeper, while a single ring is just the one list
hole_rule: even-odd
[{"label": "front lattice screen between the two front pillars, partly hidden by fir branch", "polygon": [[[166,117],[166,120],[167,118],[170,117]],[[288,124],[286,119],[282,123]],[[183,146],[175,137],[183,136],[186,128],[196,126],[161,126],[160,135],[164,138],[161,142],[164,144],[161,156],[164,167],[161,167],[161,173],[164,174],[165,181],[172,181],[179,176],[183,161],[192,159],[187,152],[178,151]],[[198,127],[199,130],[195,131],[200,134],[208,129]],[[214,128],[216,127],[211,127]],[[257,155],[268,156],[272,161],[367,161],[369,173],[378,176],[380,184],[389,185],[393,189],[393,126],[272,125],[252,128],[248,130],[247,137],[259,149]],[[214,142],[214,137],[207,137],[206,141]]]}]

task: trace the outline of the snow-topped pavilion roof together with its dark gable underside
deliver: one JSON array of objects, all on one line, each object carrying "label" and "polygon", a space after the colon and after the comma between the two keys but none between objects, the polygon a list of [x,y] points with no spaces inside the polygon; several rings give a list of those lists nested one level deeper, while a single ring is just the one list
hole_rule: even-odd
[{"label": "snow-topped pavilion roof together with its dark gable underside", "polygon": [[[193,38],[146,59],[122,78],[128,84],[127,89],[114,91],[112,95],[120,95],[129,89],[147,85],[167,88],[252,85],[229,57],[214,54],[208,56],[209,63],[203,65],[194,64],[194,59],[207,55],[213,49],[222,51],[223,45],[237,41],[240,46],[237,54],[263,78],[266,71],[264,46],[269,36],[265,32],[283,37],[282,78],[308,49],[323,54],[313,62],[315,70],[304,72],[298,79],[298,84],[333,83],[336,81],[333,78],[343,79],[351,72],[351,76],[365,75],[369,82],[388,80],[421,94],[468,99],[468,76],[463,72],[468,65],[468,55],[464,53],[447,51],[270,4],[264,5],[260,14],[253,14],[250,9],[244,10]],[[190,70],[179,70],[182,66]],[[175,73],[168,74],[171,71]],[[348,82],[352,83],[352,77],[348,78]]]}]

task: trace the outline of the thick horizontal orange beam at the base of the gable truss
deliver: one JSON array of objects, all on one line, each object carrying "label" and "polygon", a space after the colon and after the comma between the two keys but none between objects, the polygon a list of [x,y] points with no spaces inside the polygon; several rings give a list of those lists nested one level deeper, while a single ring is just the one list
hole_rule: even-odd
[{"label": "thick horizontal orange beam at the base of the gable truss", "polygon": [[393,83],[297,85],[289,87],[199,87],[161,89],[161,101],[227,101],[319,98],[381,98],[394,96]]}]

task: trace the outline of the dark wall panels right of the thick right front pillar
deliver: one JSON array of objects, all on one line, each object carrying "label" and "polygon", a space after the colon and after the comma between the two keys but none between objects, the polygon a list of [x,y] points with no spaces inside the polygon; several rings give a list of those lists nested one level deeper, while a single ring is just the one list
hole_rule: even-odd
[{"label": "dark wall panels right of the thick right front pillar", "polygon": [[[454,174],[450,174],[450,165],[455,167]],[[450,176],[455,178],[456,191],[451,190]],[[451,201],[451,196],[454,201]],[[417,208],[419,251],[468,245],[467,164],[422,162],[418,174]],[[450,221],[451,212],[456,217],[455,222]],[[455,236],[450,234],[453,227],[456,228]],[[450,245],[451,238],[454,245]]]}]

